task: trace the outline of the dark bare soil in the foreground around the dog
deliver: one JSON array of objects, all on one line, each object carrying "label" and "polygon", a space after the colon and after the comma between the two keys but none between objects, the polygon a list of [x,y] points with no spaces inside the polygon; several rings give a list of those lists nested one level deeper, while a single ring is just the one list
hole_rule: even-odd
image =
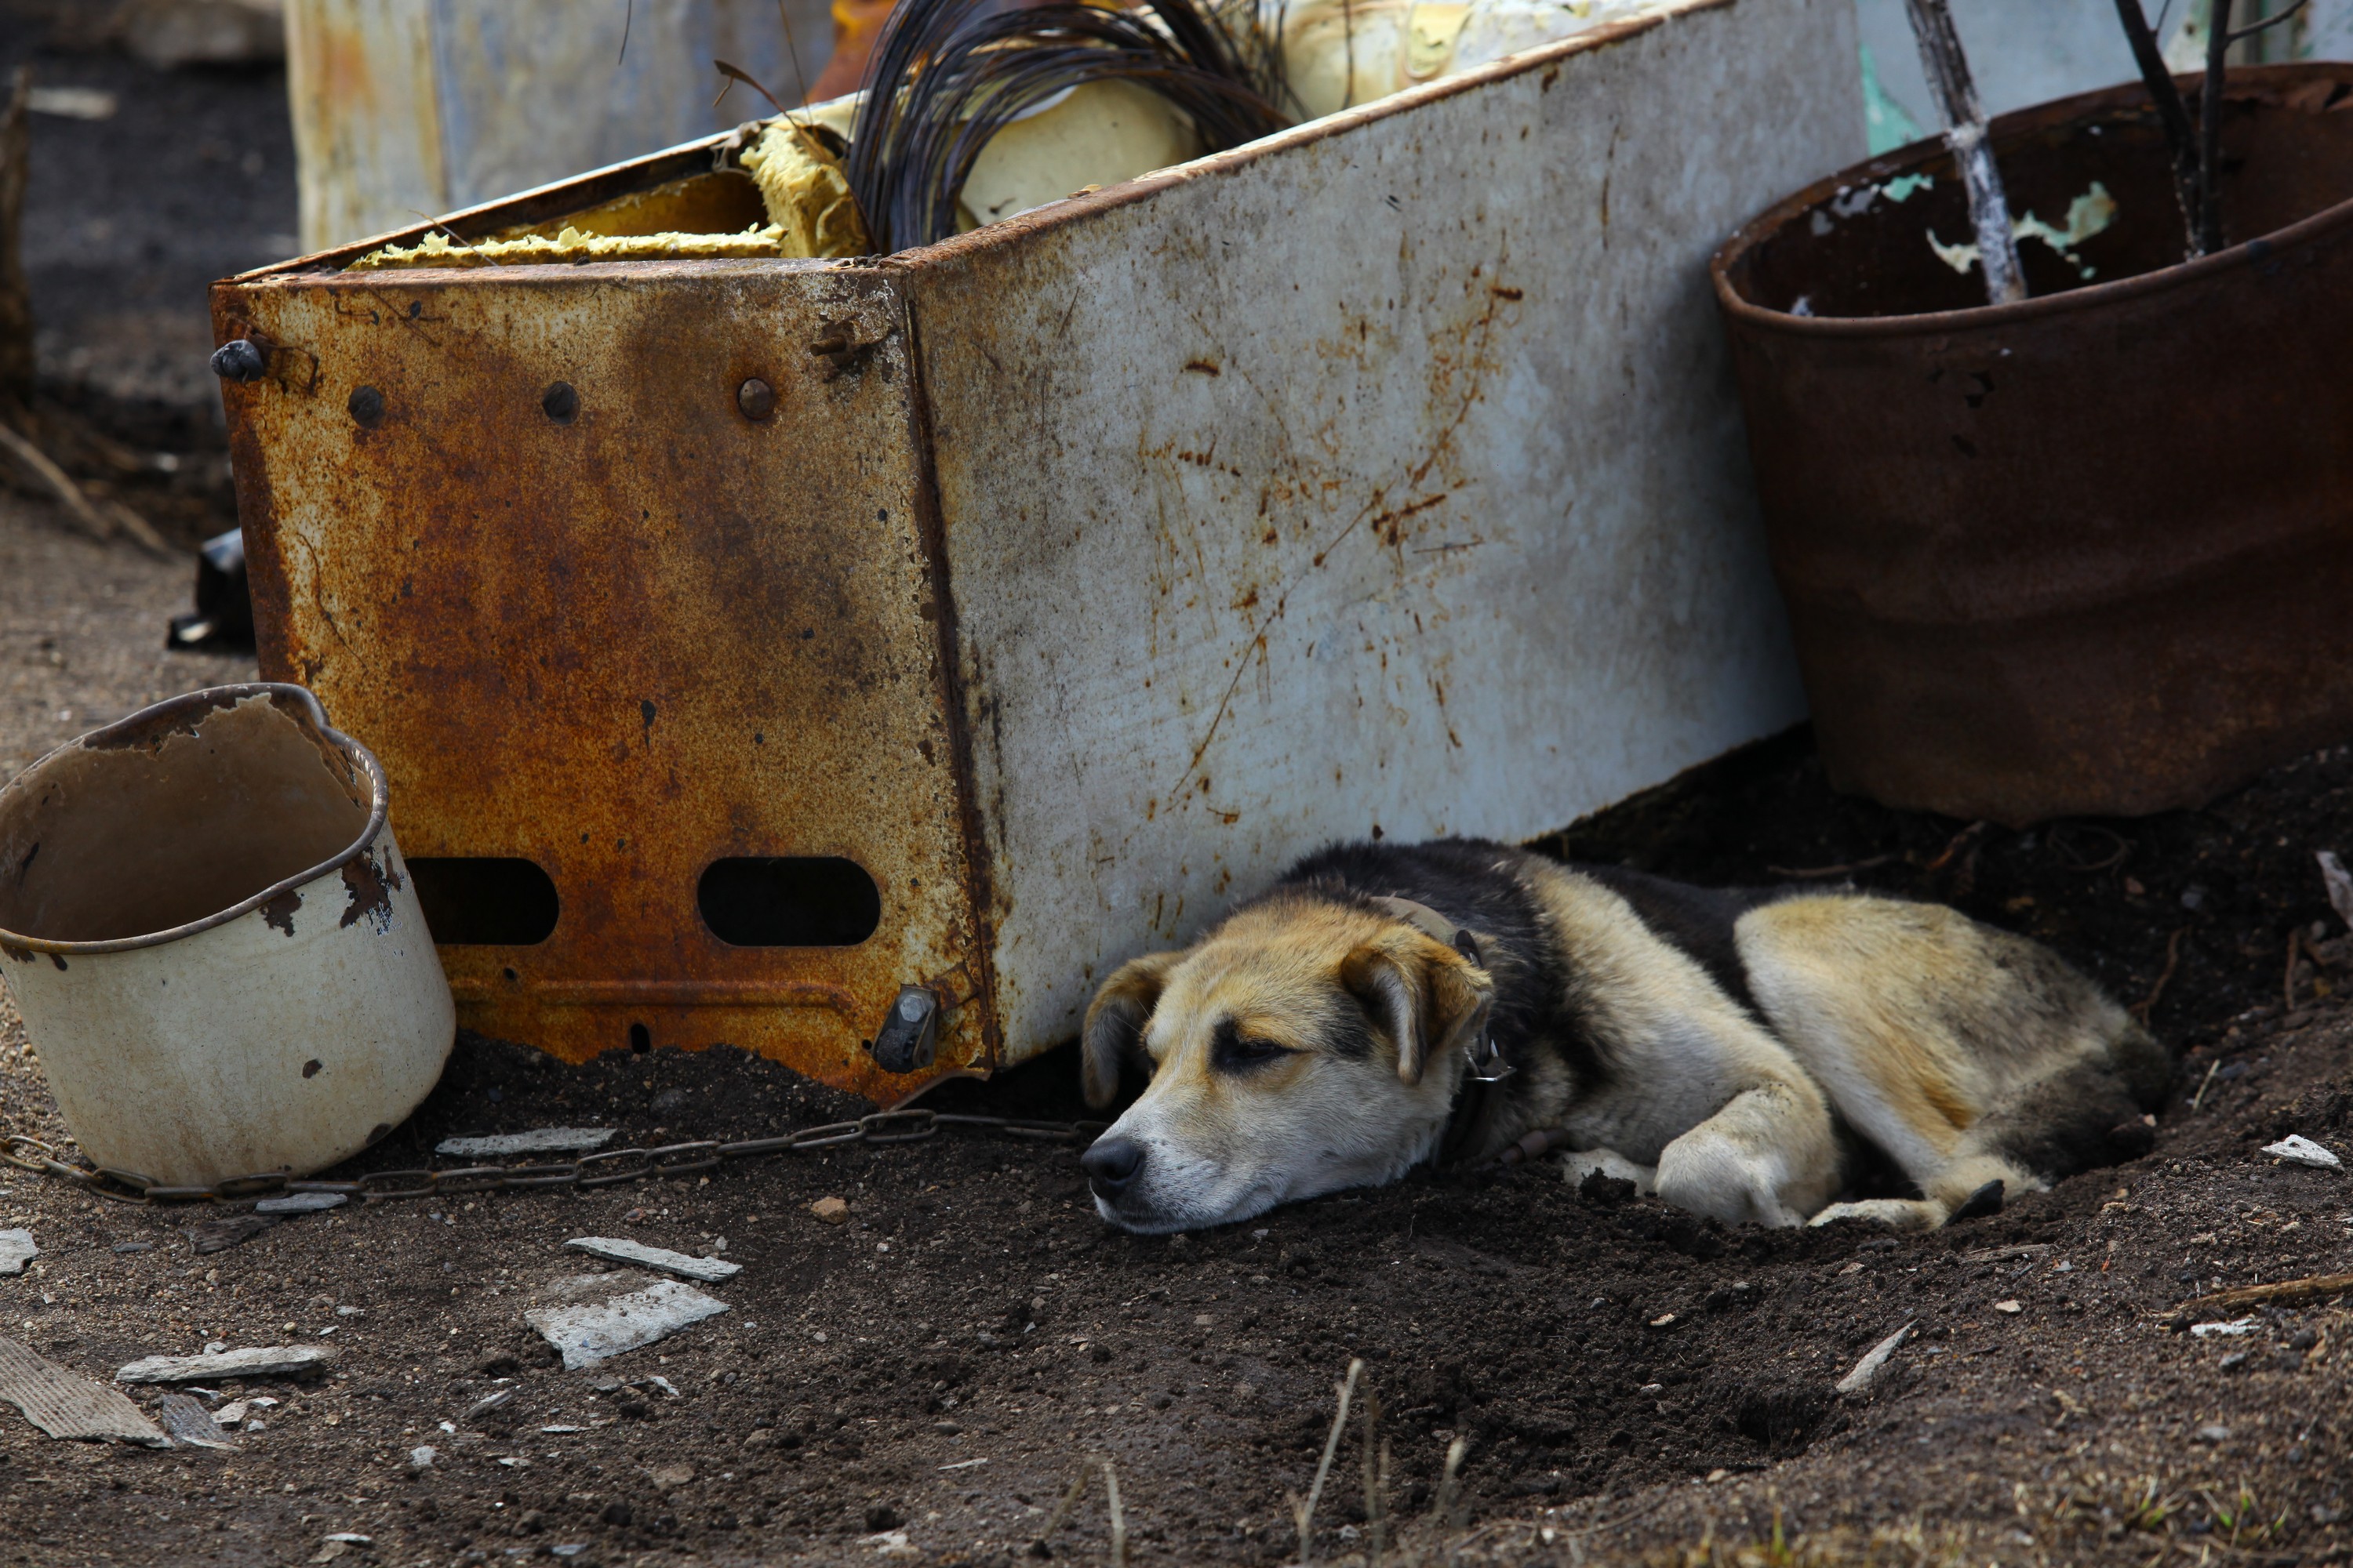
[{"label": "dark bare soil in the foreground around the dog", "polygon": [[[2184,1051],[2181,1093],[2151,1157],[1901,1239],[1722,1229],[1553,1166],[1136,1239],[1094,1218],[1071,1150],[941,1135],[595,1194],[351,1206],[205,1255],[209,1211],[9,1173],[0,1227],[31,1227],[42,1258],[0,1279],[0,1333],[92,1378],[212,1340],[341,1359],[224,1387],[282,1401],[233,1453],[0,1420],[0,1563],[1106,1561],[1099,1479],[1047,1528],[1106,1458],[1129,1561],[1297,1561],[1285,1493],[1313,1481],[1351,1359],[1391,1450],[1384,1509],[1412,1521],[1419,1561],[1440,1542],[1464,1561],[1682,1561],[1711,1537],[1765,1542],[1755,1561],[2344,1561],[2348,1314],[2261,1312],[2238,1338],[2169,1319],[2221,1284],[2353,1267],[2346,1175],[2259,1154],[2287,1131],[2353,1154],[2353,1013],[2322,994],[2353,969],[2304,959],[2282,1006],[2289,929],[2344,952],[2311,851],[2353,849],[2353,750],[2202,813],[1967,827],[1833,797],[1791,736],[1558,846],[1715,882],[1861,865],[1861,884],[2054,943],[2127,999],[2158,990],[2172,943],[2153,1016]],[[31,1048],[0,1027],[0,1121],[61,1140]],[[934,1103],[1085,1114],[1068,1053]],[[572,1070],[468,1034],[362,1166],[426,1164],[461,1131],[652,1143],[859,1110],[729,1048]],[[849,1220],[816,1220],[821,1197]],[[584,1234],[725,1241],[744,1272],[711,1291],[729,1312],[551,1366],[522,1312],[598,1267],[562,1251]],[[1885,1382],[1838,1399],[1904,1324]],[[1440,1528],[1457,1436],[1461,1528]],[[438,1450],[424,1472],[419,1446]],[[1360,1446],[1358,1420],[1318,1559],[1369,1547]],[[1798,1542],[1779,1556],[1777,1512]]]}]

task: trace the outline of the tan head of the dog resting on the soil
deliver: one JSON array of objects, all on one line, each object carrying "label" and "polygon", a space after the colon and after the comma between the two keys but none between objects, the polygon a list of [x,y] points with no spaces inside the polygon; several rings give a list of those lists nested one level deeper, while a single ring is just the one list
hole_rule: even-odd
[{"label": "tan head of the dog resting on the soil", "polygon": [[1278,893],[1188,952],[1113,973],[1087,1009],[1087,1103],[1151,1086],[1085,1154],[1127,1229],[1226,1225],[1395,1180],[1426,1159],[1494,980],[1372,905]]}]

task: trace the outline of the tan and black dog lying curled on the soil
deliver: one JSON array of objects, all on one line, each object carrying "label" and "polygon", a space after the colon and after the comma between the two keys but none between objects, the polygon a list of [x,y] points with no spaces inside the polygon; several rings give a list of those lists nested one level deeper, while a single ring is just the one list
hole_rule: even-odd
[{"label": "tan and black dog lying curled on the soil", "polygon": [[1468,839],[1301,860],[1120,966],[1082,1058],[1096,1107],[1151,1074],[1082,1159],[1139,1232],[1513,1145],[1727,1225],[1927,1229],[2146,1152],[2172,1077],[2097,985],[1955,910]]}]

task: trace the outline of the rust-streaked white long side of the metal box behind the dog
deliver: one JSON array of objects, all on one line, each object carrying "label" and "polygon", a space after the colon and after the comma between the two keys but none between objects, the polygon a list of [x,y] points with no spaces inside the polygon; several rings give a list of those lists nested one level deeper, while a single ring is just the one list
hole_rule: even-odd
[{"label": "rust-streaked white long side of the metal box behind the dog", "polygon": [[1802,715],[1706,259],[1861,155],[1849,0],[1694,0],[908,256],[1009,1058],[1332,837]]}]

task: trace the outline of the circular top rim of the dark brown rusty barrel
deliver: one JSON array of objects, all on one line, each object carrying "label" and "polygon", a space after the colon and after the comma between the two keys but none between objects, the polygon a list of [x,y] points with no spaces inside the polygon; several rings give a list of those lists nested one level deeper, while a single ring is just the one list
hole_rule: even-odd
[{"label": "circular top rim of the dark brown rusty barrel", "polygon": [[[2353,82],[2353,66],[2341,61],[2297,61],[2280,66],[2235,66],[2224,87],[2224,96],[2231,89],[2264,89],[2289,87],[2297,82]],[[2144,82],[2122,82],[2118,87],[2099,87],[2094,92],[2080,92],[2066,99],[2054,99],[2049,103],[2038,103],[2035,108],[2021,108],[2009,115],[1998,115],[1986,129],[1988,141],[1995,150],[2005,150],[2019,141],[2028,141],[2045,132],[2066,129],[2073,125],[2099,122],[2118,113],[2144,110],[2148,113],[2148,87]],[[1840,190],[1868,183],[1885,183],[1889,179],[1901,179],[1906,174],[1920,174],[1937,162],[1951,160],[1944,146],[1944,136],[1927,136],[1913,141],[1911,146],[1880,153],[1866,162],[1840,169],[1828,179],[1819,179],[1798,195],[1777,202],[1767,212],[1741,223],[1739,233],[1725,240],[1722,249],[1708,261],[1708,280],[1715,284],[1715,299],[1727,315],[1739,317],[1744,324],[1762,327],[1772,331],[1786,331],[1791,336],[1817,336],[1817,339],[1880,339],[1880,336],[1913,336],[1934,331],[1981,331],[1991,327],[2012,327],[2019,322],[2033,322],[2054,315],[2075,315],[2087,310],[2101,310],[2115,301],[2139,299],[2144,294],[2167,294],[2172,289],[2184,289],[2217,273],[2235,273],[2240,268],[2254,266],[2259,261],[2278,259],[2280,252],[2304,244],[2306,240],[2327,235],[2329,230],[2353,223],[2353,200],[2334,202],[2297,219],[2287,228],[2275,228],[2268,235],[2257,235],[2252,240],[2240,240],[2209,256],[2198,256],[2193,261],[2174,261],[2172,266],[2155,268],[2151,273],[2134,273],[2132,277],[2113,277],[2108,282],[2085,284],[2080,289],[2068,289],[2066,294],[2042,294],[2035,299],[2021,299],[2009,306],[1969,306],[1967,310],[1915,310],[1904,315],[1791,315],[1788,310],[1774,310],[1772,306],[1760,306],[1739,292],[1732,282],[1732,268],[1746,256],[1746,252],[1765,244],[1784,228],[1831,202]]]}]

